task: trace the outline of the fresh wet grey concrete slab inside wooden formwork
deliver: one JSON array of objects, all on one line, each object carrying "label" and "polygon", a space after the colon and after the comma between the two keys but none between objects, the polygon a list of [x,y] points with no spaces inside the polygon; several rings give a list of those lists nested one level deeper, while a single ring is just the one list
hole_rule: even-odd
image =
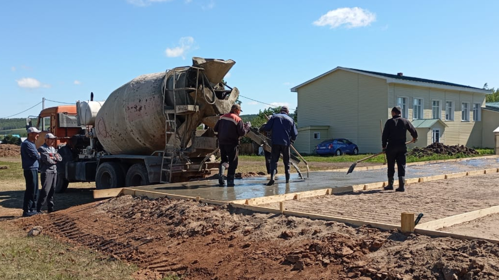
[{"label": "fresh wet grey concrete slab inside wooden formwork", "polygon": [[[499,158],[476,158],[456,162],[409,165],[406,167],[406,178],[426,177],[495,167],[499,167]],[[205,199],[232,201],[276,194],[382,182],[387,180],[386,172],[386,168],[366,171],[354,170],[348,175],[345,171],[313,171],[310,172],[309,178],[306,178],[305,172],[305,179],[301,179],[298,177],[297,173],[293,173],[291,174],[291,180],[288,184],[284,181],[284,175],[278,174],[276,183],[273,186],[265,185],[266,182],[268,182],[268,177],[258,176],[236,179],[236,186],[234,187],[220,186],[218,180],[206,180],[133,188],[183,196],[199,196]],[[397,173],[395,176],[397,176]]]}]

